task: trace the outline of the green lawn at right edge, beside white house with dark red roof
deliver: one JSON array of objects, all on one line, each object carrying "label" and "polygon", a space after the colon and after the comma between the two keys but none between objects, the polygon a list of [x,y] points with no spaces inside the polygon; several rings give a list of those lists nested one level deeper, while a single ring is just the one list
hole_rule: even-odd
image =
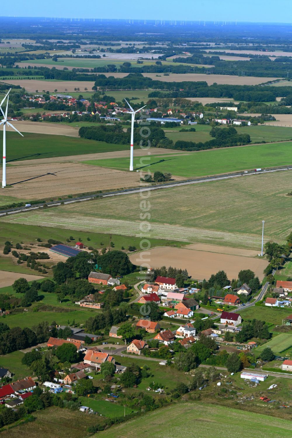
[{"label": "green lawn at right edge, beside white house with dark red roof", "polygon": [[[291,309],[283,309],[278,307],[252,306],[247,309],[240,309],[243,320],[259,319],[261,321],[270,322],[271,324],[282,325],[282,319],[291,314]],[[291,338],[292,336],[289,335]],[[275,338],[276,339],[276,338]],[[277,336],[277,339],[279,337]],[[271,342],[271,341],[269,341]],[[292,343],[291,343],[292,345]]]}]

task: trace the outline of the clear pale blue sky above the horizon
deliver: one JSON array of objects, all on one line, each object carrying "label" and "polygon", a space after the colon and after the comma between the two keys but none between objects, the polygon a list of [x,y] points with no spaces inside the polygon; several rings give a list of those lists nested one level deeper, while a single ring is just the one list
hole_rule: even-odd
[{"label": "clear pale blue sky above the horizon", "polygon": [[[13,13],[12,13],[13,11]],[[292,22],[292,0],[14,0],[1,16]]]}]

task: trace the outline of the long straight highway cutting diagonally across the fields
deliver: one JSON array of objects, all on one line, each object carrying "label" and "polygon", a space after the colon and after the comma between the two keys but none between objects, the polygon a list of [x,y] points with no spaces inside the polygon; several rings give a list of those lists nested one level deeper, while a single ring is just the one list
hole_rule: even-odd
[{"label": "long straight highway cutting diagonally across the fields", "polygon": [[95,198],[108,198],[110,196],[119,196],[124,194],[132,194],[132,193],[141,193],[143,191],[152,191],[152,190],[159,190],[159,189],[166,189],[171,187],[180,187],[190,184],[199,184],[199,183],[207,183],[210,181],[220,181],[220,180],[227,180],[231,178],[238,178],[238,177],[249,177],[251,175],[263,175],[265,173],[273,173],[273,172],[280,172],[280,171],[287,171],[292,170],[292,167],[285,167],[285,166],[278,166],[273,168],[267,168],[262,170],[261,172],[255,172],[254,170],[249,170],[247,173],[244,173],[246,171],[242,170],[240,172],[235,173],[224,173],[223,175],[213,175],[213,176],[207,176],[207,177],[199,177],[199,178],[192,178],[189,180],[182,180],[182,181],[175,181],[171,183],[163,183],[163,184],[157,184],[155,186],[144,186],[141,187],[134,187],[124,190],[117,190],[107,193],[94,193],[94,194],[88,194],[84,196],[78,196],[76,198],[68,198],[64,199],[62,201],[52,201],[52,202],[40,202],[38,204],[33,204],[31,207],[16,207],[16,208],[7,208],[4,210],[0,210],[0,216],[6,215],[6,214],[15,214],[15,213],[22,213],[22,212],[29,212],[32,210],[37,210],[39,208],[43,208],[44,204],[46,204],[48,207],[57,207],[61,205],[61,203],[64,205],[72,204],[75,202],[81,202],[81,201],[89,201],[91,199]]}]

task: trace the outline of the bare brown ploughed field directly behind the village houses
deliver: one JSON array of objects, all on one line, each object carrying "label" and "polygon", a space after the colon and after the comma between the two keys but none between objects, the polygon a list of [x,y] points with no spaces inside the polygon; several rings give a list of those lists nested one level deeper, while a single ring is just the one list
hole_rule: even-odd
[{"label": "bare brown ploughed field directly behind the village houses", "polygon": [[[206,249],[208,245],[204,245]],[[214,246],[211,245],[214,249]],[[188,247],[189,248],[189,247]],[[229,249],[229,248],[228,248]],[[236,252],[235,248],[230,248]],[[242,252],[242,250],[240,250]],[[132,254],[130,260],[137,263],[138,254]],[[218,271],[225,271],[229,279],[237,278],[241,269],[251,269],[260,280],[264,278],[264,268],[267,266],[266,260],[260,258],[244,257],[239,255],[224,254],[210,251],[196,251],[185,248],[153,248],[150,256],[147,257],[153,268],[161,266],[176,266],[177,268],[187,269],[189,275],[195,279],[208,279],[211,274]]]}]

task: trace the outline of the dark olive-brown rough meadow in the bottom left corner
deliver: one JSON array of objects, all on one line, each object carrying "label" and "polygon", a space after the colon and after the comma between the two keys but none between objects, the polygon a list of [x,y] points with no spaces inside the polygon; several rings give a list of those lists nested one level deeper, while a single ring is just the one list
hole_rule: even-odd
[{"label": "dark olive-brown rough meadow in the bottom left corner", "polygon": [[36,411],[33,416],[36,421],[5,430],[5,438],[19,438],[22,434],[30,438],[86,438],[91,435],[87,427],[96,426],[101,418],[56,406]]}]

